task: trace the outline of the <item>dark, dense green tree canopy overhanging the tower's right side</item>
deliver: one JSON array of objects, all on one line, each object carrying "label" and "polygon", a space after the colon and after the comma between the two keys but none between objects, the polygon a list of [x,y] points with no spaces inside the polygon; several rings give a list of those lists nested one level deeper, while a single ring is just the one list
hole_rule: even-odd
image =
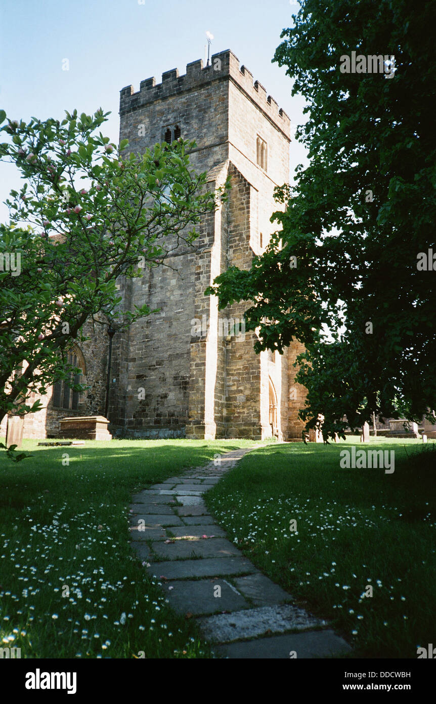
[{"label": "dark, dense green tree canopy overhanging the tower's right side", "polygon": [[436,4],[301,0],[293,19],[274,61],[307,100],[309,166],[276,189],[264,255],[208,292],[252,301],[257,351],[305,344],[304,419],[421,420],[436,406]]}]

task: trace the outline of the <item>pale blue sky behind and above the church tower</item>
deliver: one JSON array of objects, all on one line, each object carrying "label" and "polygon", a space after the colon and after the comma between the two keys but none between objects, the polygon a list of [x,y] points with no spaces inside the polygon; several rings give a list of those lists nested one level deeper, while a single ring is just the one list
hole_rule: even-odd
[{"label": "pale blue sky behind and above the church tower", "polygon": [[[0,108],[11,119],[63,118],[77,108],[111,111],[103,134],[118,142],[122,87],[203,58],[205,32],[212,53],[231,49],[296,125],[305,121],[302,97],[291,97],[284,68],[271,63],[283,27],[297,4],[289,0],[2,0]],[[65,59],[69,68],[63,70]],[[304,149],[291,144],[291,171]],[[20,183],[0,163],[0,201]],[[8,210],[0,206],[0,220]]]}]

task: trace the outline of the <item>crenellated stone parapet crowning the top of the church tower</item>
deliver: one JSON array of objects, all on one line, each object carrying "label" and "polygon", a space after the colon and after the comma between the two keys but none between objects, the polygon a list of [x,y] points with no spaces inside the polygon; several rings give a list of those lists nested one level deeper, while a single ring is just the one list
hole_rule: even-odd
[{"label": "crenellated stone parapet crowning the top of the church tower", "polygon": [[203,59],[186,65],[186,74],[179,76],[179,70],[162,73],[162,83],[156,83],[155,77],[141,81],[139,91],[134,92],[132,85],[120,91],[120,115],[130,113],[148,103],[165,99],[181,92],[193,90],[215,80],[233,80],[259,108],[268,115],[290,141],[290,118],[278,104],[267,96],[267,91],[259,81],[254,81],[252,73],[244,65],[240,67],[238,57],[226,49],[213,54],[210,65],[204,66]]}]

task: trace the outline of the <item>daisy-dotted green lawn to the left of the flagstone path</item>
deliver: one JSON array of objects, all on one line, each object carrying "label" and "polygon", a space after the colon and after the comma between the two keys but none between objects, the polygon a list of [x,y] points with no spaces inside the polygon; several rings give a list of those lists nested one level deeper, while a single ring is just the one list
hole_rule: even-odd
[{"label": "daisy-dotted green lawn to the left of the flagstone path", "polygon": [[0,647],[21,658],[207,658],[195,623],[169,609],[130,548],[128,507],[134,491],[251,444],[24,441],[33,456],[16,464],[1,451]]}]

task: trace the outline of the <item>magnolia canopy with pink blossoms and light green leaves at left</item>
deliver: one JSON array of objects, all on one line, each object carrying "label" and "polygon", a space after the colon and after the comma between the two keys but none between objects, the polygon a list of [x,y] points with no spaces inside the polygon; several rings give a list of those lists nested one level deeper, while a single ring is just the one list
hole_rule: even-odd
[{"label": "magnolia canopy with pink blossoms and light green leaves at left", "polygon": [[0,225],[0,420],[38,410],[32,392],[78,371],[65,352],[84,339],[87,320],[122,329],[149,315],[146,304],[122,308],[117,281],[191,244],[195,225],[226,196],[191,168],[194,142],[129,153],[127,140],[117,147],[101,134],[108,114],[26,123],[0,111],[0,157],[23,177]]}]

